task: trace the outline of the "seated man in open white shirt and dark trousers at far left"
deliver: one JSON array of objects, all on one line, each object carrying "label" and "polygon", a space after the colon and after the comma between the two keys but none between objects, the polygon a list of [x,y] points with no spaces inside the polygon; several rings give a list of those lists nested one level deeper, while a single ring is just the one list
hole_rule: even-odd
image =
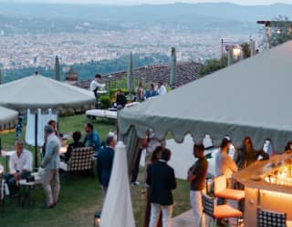
[{"label": "seated man in open white shirt and dark trousers at far left", "polygon": [[18,189],[16,182],[30,176],[32,170],[33,155],[24,150],[24,142],[16,140],[16,153],[9,159],[9,174],[5,175],[5,181],[11,194]]}]

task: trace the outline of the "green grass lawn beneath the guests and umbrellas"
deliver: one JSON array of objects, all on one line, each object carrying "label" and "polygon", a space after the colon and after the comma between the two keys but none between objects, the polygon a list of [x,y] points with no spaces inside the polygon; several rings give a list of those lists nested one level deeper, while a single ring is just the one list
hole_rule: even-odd
[{"label": "green grass lawn beneath the guests and umbrellas", "polygon": [[[60,118],[59,129],[63,133],[80,130],[88,122],[84,115]],[[116,129],[115,123],[108,120],[94,120],[94,127],[99,131],[101,139],[105,139],[109,131]],[[24,137],[25,133],[23,133]],[[15,131],[1,134],[2,146],[5,150],[14,148]],[[32,147],[26,146],[28,150]],[[5,159],[0,158],[5,164]],[[143,169],[139,178],[143,179]],[[186,181],[177,181],[178,187],[174,193],[174,215],[190,209],[189,186]],[[143,225],[145,201],[141,200],[141,187],[131,187],[133,210],[137,227]],[[119,191],[117,191],[118,193]],[[16,198],[7,198],[5,212],[0,212],[0,226],[4,227],[87,227],[93,226],[93,213],[99,210],[101,204],[101,190],[98,179],[82,176],[61,176],[61,190],[57,207],[52,210],[40,209],[45,201],[45,194],[41,186],[33,191],[35,206],[21,208]],[[1,211],[1,210],[0,210]],[[114,214],[113,214],[114,218]]]}]

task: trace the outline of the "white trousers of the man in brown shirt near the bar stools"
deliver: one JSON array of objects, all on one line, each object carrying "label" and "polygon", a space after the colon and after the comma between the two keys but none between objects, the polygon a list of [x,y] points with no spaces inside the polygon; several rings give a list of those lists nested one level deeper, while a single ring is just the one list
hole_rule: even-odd
[{"label": "white trousers of the man in brown shirt near the bar stools", "polygon": [[193,227],[205,227],[202,206],[202,191],[190,191],[190,201],[195,223]]}]

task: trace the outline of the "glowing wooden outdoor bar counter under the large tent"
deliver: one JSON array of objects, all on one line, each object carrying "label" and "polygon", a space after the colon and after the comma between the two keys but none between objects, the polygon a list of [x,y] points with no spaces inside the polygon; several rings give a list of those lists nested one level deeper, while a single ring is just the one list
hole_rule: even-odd
[{"label": "glowing wooden outdoor bar counter under the large tent", "polygon": [[286,212],[292,220],[292,164],[282,164],[283,155],[257,161],[234,174],[235,181],[245,185],[245,226],[257,226],[256,209]]}]

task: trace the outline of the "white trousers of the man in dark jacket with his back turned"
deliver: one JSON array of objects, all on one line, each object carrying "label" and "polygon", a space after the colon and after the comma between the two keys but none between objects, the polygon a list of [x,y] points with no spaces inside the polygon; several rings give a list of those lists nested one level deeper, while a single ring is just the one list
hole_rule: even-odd
[{"label": "white trousers of the man in dark jacket with his back turned", "polygon": [[162,212],[162,227],[172,227],[172,209],[173,206],[162,206],[158,203],[151,203],[151,216],[149,227],[156,227],[159,215]]}]

